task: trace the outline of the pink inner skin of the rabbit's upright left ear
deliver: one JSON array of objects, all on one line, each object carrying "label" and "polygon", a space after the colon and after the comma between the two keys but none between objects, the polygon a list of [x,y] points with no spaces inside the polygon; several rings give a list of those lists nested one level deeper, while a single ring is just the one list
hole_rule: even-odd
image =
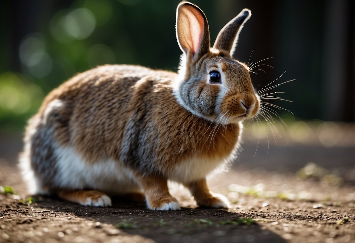
[{"label": "pink inner skin of the rabbit's upright left ear", "polygon": [[201,43],[204,28],[204,18],[201,13],[195,9],[195,7],[187,6],[187,9],[189,9],[189,11],[186,11],[186,15],[188,16],[190,25],[190,41],[192,41],[191,49],[195,54]]}]

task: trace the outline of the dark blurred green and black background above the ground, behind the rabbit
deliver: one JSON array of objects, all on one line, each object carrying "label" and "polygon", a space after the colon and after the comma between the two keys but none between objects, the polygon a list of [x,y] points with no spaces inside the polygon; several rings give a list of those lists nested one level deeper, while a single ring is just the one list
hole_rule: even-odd
[{"label": "dark blurred green and black background above the ground, behind the rabbit", "polygon": [[[260,66],[256,89],[277,80],[274,102],[286,121],[355,120],[355,2],[351,0],[196,0],[206,13],[212,45],[243,8],[252,17],[235,58]],[[23,131],[50,90],[97,65],[140,64],[176,71],[179,0],[17,0],[0,10],[0,129]],[[250,59],[250,61],[249,61]],[[276,82],[275,82],[276,83]]]}]

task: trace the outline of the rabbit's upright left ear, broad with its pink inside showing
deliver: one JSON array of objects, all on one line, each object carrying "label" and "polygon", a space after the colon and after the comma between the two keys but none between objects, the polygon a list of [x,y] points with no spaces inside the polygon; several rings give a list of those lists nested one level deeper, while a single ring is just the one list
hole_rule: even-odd
[{"label": "rabbit's upright left ear, broad with its pink inside showing", "polygon": [[200,59],[211,47],[207,18],[203,11],[190,2],[181,2],[176,10],[176,37],[180,49]]}]

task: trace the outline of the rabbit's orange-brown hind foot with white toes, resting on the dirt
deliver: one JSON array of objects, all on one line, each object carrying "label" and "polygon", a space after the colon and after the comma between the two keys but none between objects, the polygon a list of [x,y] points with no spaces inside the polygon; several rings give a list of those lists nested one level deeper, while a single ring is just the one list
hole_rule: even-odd
[{"label": "rabbit's orange-brown hind foot with white toes, resting on the dirt", "polygon": [[111,198],[103,192],[86,190],[60,190],[58,196],[62,199],[94,207],[111,206]]}]

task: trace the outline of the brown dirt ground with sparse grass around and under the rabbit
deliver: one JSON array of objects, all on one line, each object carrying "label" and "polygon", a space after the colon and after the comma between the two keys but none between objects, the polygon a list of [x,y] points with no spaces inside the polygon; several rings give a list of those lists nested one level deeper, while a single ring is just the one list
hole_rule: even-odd
[{"label": "brown dirt ground with sparse grass around and under the rabbit", "polygon": [[0,185],[15,189],[0,194],[0,242],[355,242],[354,128],[299,123],[278,147],[246,131],[238,160],[209,180],[232,207],[197,208],[171,184],[181,211],[120,198],[109,208],[29,202],[16,168],[21,135],[0,134]]}]

